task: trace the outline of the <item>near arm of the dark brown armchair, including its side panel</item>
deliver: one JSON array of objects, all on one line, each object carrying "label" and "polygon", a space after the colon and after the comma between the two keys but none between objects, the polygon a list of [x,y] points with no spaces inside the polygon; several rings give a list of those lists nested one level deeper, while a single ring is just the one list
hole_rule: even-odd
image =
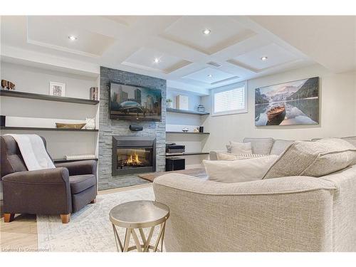
[{"label": "near arm of the dark brown armchair, including its side panel", "polygon": [[5,213],[72,212],[69,172],[66,168],[14,172],[2,180]]}]

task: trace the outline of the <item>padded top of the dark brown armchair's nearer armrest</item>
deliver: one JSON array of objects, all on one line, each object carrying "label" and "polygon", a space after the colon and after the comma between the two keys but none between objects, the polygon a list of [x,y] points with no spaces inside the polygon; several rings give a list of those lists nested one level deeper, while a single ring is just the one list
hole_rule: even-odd
[{"label": "padded top of the dark brown armchair's nearer armrest", "polygon": [[38,169],[7,174],[2,180],[21,184],[69,184],[69,173],[66,168]]}]

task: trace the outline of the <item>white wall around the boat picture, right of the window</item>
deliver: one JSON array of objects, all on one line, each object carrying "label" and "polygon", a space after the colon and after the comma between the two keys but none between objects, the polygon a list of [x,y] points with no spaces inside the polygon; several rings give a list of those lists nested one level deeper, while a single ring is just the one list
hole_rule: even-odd
[{"label": "white wall around the boat picture, right of the window", "polygon": [[[320,125],[255,126],[256,88],[315,76],[320,77]],[[203,150],[224,150],[230,140],[241,142],[244,137],[304,140],[313,137],[356,135],[355,79],[355,72],[335,74],[315,65],[248,80],[248,112],[219,117],[209,116],[203,125],[204,130],[211,134],[204,143]],[[203,102],[210,109],[210,96],[203,97]]]}]

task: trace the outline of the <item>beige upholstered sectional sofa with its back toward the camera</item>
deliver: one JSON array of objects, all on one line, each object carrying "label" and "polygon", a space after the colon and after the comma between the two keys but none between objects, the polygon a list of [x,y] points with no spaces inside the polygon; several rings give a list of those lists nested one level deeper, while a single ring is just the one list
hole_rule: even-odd
[{"label": "beige upholstered sectional sofa with its back toward the camera", "polygon": [[[344,139],[356,145],[356,137]],[[269,153],[289,145],[244,142],[256,154],[266,142]],[[165,174],[153,187],[170,209],[167,251],[356,251],[356,165],[318,178],[234,184]]]}]

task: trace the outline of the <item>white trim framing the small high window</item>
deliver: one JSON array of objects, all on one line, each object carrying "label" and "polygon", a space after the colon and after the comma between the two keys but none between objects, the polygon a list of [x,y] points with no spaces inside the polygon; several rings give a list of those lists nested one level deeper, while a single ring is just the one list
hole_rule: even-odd
[{"label": "white trim framing the small high window", "polygon": [[[233,90],[236,87],[240,87],[241,85],[244,85],[245,108],[244,109],[240,109],[240,110],[230,110],[230,111],[224,111],[224,112],[215,112],[214,94],[220,93],[220,92],[224,92],[224,91]],[[248,112],[247,80],[245,80],[244,82],[241,82],[241,83],[234,83],[234,84],[231,84],[231,85],[225,85],[225,86],[221,86],[221,87],[218,87],[218,88],[211,89],[210,98],[211,98],[211,111],[212,111],[211,112],[211,116],[212,117],[247,113]]]}]

